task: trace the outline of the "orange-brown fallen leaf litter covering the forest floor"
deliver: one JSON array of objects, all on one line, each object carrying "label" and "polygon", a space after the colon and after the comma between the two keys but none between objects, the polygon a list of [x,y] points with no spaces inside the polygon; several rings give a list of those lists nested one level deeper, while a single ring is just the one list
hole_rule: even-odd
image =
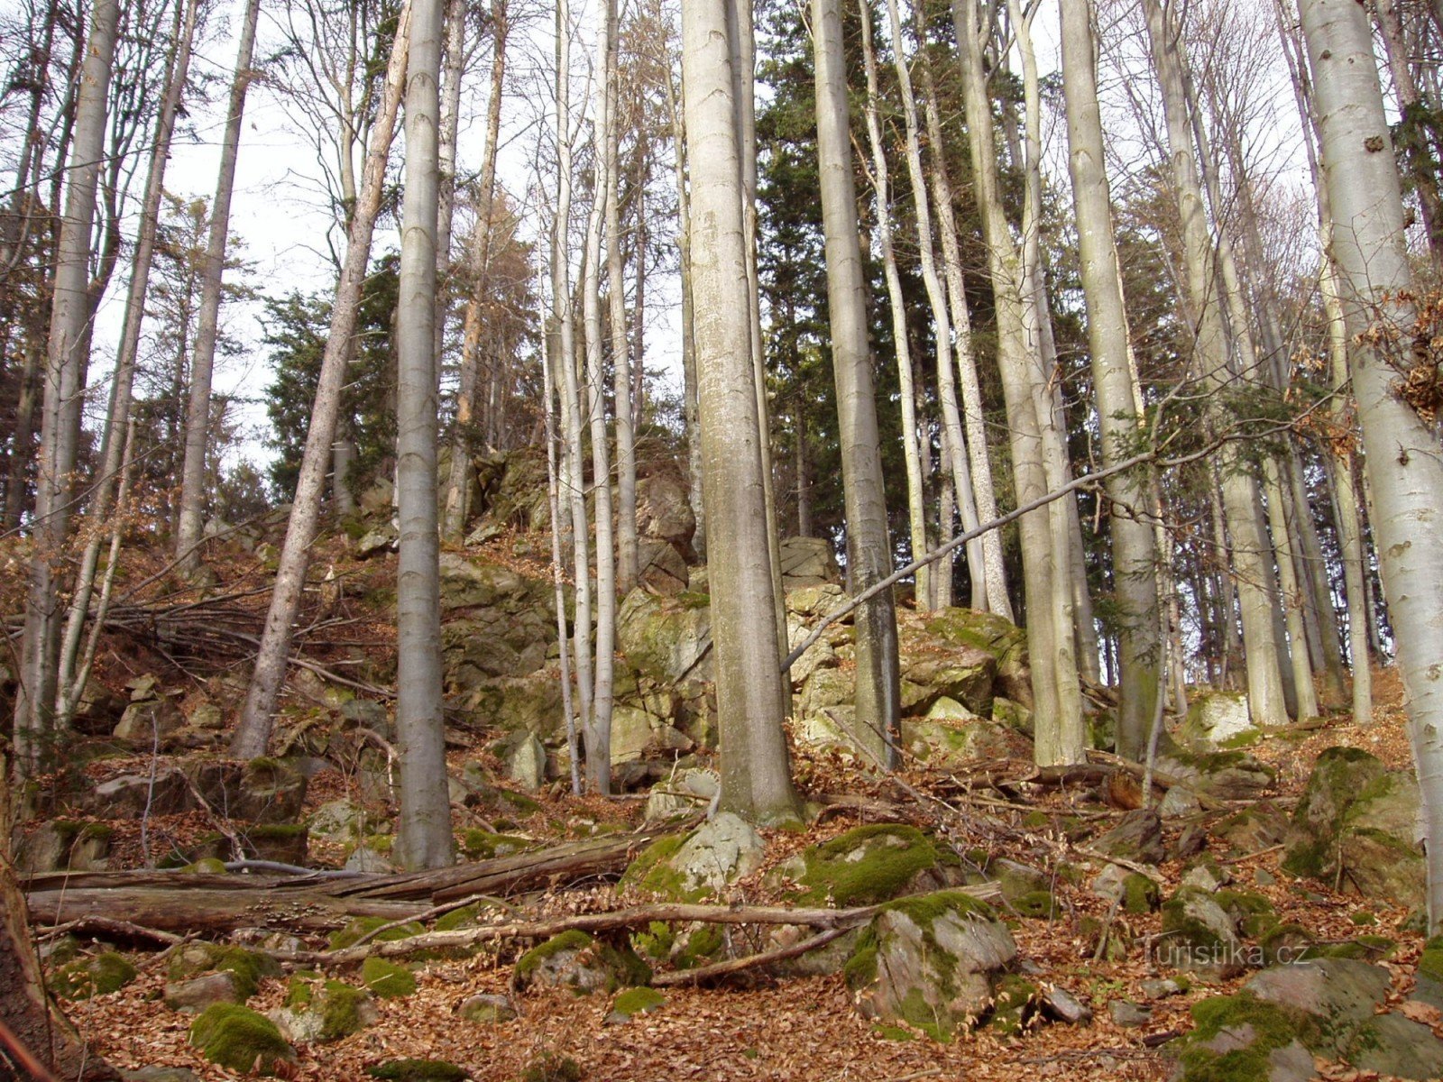
[{"label": "orange-brown fallen leaf litter covering the forest floor", "polygon": [[[322,554],[323,558],[323,554]],[[384,638],[378,625],[356,623],[346,630],[355,641],[364,633]],[[1361,747],[1382,759],[1390,767],[1408,769],[1411,755],[1404,731],[1401,687],[1392,671],[1380,671],[1374,679],[1378,700],[1377,720],[1368,729],[1352,726],[1345,716],[1326,720],[1313,729],[1300,729],[1266,739],[1250,752],[1278,770],[1276,789],[1263,801],[1290,812],[1309,776],[1317,753],[1345,744]],[[1315,723],[1316,724],[1316,723]],[[457,750],[462,759],[485,759],[482,740],[473,749]],[[1089,834],[1108,830],[1126,811],[1108,804],[1107,793],[1095,785],[1062,788],[1022,786],[1025,796],[999,795],[983,786],[958,786],[955,775],[918,766],[900,775],[903,785],[864,775],[837,755],[818,755],[794,749],[799,786],[808,796],[847,793],[854,806],[831,806],[804,834],[766,832],[766,864],[733,884],[724,902],[763,905],[776,899],[765,886],[766,870],[804,845],[825,841],[863,822],[905,819],[931,827],[958,851],[986,850],[991,857],[1040,867],[1053,874],[1058,906],[1051,919],[1009,916],[1019,946],[1019,956],[1029,964],[1030,980],[1051,982],[1088,1004],[1095,1017],[1088,1024],[1048,1023],[1040,1017],[1020,1036],[1006,1037],[983,1029],[942,1044],[922,1033],[898,1040],[896,1032],[885,1036],[863,1019],[853,1006],[853,995],[841,975],[773,980],[759,972],[740,974],[711,987],[675,987],[665,991],[664,1004],[638,1014],[622,1024],[608,1024],[610,997],[579,997],[567,991],[531,991],[517,995],[519,1017],[496,1024],[462,1020],[457,1008],[476,993],[509,993],[511,967],[528,942],[486,945],[462,959],[429,961],[418,967],[418,990],[404,998],[378,1000],[380,1020],[362,1032],[329,1044],[302,1044],[293,1066],[283,1068],[297,1079],[364,1079],[365,1068],[398,1057],[442,1059],[459,1065],[478,1082],[515,1082],[528,1068],[551,1057],[566,1057],[579,1068],[577,1079],[587,1082],[661,1082],[671,1079],[773,1079],[815,1082],[902,1082],[903,1079],[1166,1079],[1173,1060],[1163,1044],[1170,1036],[1192,1027],[1189,1008],[1209,995],[1229,994],[1244,977],[1229,981],[1193,978],[1175,995],[1147,1000],[1141,982],[1175,975],[1160,969],[1146,949],[1147,936],[1160,931],[1157,913],[1115,916],[1115,932],[1131,942],[1121,961],[1094,958],[1095,933],[1084,926],[1087,918],[1108,919],[1108,905],[1088,889],[1092,873],[1069,881],[1062,873],[1071,866],[1101,861],[1079,853],[1087,840],[1068,827],[1087,821]],[[105,772],[140,767],[147,757],[130,763],[107,760]],[[1023,778],[1029,765],[1003,765],[1010,776]],[[359,801],[354,776],[341,772],[317,775],[307,795],[306,811],[322,802],[348,795]],[[860,799],[857,799],[860,798]],[[1114,801],[1114,804],[1117,804]],[[1205,814],[1211,825],[1225,814]],[[618,801],[577,799],[561,786],[540,795],[540,809],[518,822],[519,832],[545,845],[609,828],[636,825],[642,804],[635,798]],[[1038,811],[1048,814],[1039,825]],[[1023,825],[1026,824],[1029,825]],[[140,851],[134,824],[118,822],[113,867],[134,867]],[[173,824],[177,834],[190,827]],[[196,821],[193,830],[205,824]],[[1169,838],[1177,824],[1169,822]],[[1407,997],[1417,968],[1423,936],[1410,913],[1390,899],[1359,897],[1330,890],[1328,884],[1299,881],[1278,868],[1281,847],[1227,857],[1216,847],[1218,863],[1232,881],[1266,894],[1284,922],[1303,925],[1322,942],[1346,942],[1361,931],[1385,935],[1398,942],[1397,952],[1382,962],[1394,977],[1394,1001]],[[312,847],[317,866],[338,866],[341,853],[325,845]],[[1170,860],[1159,868],[1163,897],[1177,886],[1183,864]],[[509,903],[534,915],[599,912],[635,903],[636,896],[622,896],[610,883],[567,884],[564,889],[511,897]],[[1095,928],[1095,925],[1094,925]],[[310,944],[323,948],[320,938]],[[101,1056],[121,1069],[144,1066],[188,1068],[201,1079],[235,1078],[234,1073],[203,1060],[188,1043],[193,1016],[173,1011],[163,1004],[165,962],[159,954],[144,951],[130,955],[140,977],[120,991],[66,1004],[66,1013],[84,1039]],[[1035,967],[1035,968],[1032,968]],[[339,975],[345,977],[345,972]],[[266,1011],[281,1006],[284,982],[264,981],[250,1006]],[[1146,1003],[1150,1017],[1134,1027],[1114,1021],[1108,1003],[1128,998]],[[1424,1021],[1437,1023],[1443,1036],[1443,1016],[1433,1011]],[[1319,1062],[1322,1078],[1349,1082],[1375,1078],[1342,1065]],[[535,1078],[535,1075],[532,1075]],[[556,1078],[560,1078],[557,1075]]]}]

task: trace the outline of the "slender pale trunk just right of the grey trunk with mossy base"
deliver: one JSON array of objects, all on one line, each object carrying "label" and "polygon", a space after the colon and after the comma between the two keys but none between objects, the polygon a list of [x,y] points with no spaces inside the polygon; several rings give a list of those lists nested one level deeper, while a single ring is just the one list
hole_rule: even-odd
[{"label": "slender pale trunk just right of the grey trunk with mossy base", "polygon": [[[922,431],[916,420],[916,387],[912,372],[912,343],[906,325],[906,299],[902,294],[902,276],[898,271],[896,245],[892,237],[892,182],[877,108],[882,92],[877,79],[876,50],[872,46],[872,9],[869,0],[859,0],[859,3],[861,7],[861,56],[867,74],[867,146],[872,150],[872,188],[877,199],[877,245],[882,250],[882,270],[887,284],[887,312],[892,316],[892,346],[896,352],[898,397],[902,405],[902,463],[906,470],[908,537],[915,560],[928,551],[926,493],[922,483],[919,446]],[[918,568],[912,590],[918,606],[925,606],[929,599],[937,597],[934,586],[937,576],[938,568],[931,564]]]}]

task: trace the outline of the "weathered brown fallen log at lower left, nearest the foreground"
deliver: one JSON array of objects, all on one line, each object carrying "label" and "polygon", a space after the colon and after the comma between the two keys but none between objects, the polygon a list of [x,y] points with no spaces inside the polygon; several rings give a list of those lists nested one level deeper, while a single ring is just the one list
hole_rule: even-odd
[{"label": "weathered brown fallen log at lower left, nearest the foreground", "polygon": [[160,932],[202,935],[221,935],[237,928],[329,932],[358,916],[398,920],[426,912],[424,905],[414,902],[332,897],[319,890],[108,887],[38,890],[26,900],[36,925],[98,918]]}]

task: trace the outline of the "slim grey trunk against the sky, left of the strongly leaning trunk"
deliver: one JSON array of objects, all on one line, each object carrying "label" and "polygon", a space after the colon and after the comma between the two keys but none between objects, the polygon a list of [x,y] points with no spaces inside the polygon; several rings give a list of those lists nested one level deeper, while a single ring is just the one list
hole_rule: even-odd
[{"label": "slim grey trunk against the sky, left of the strongly leaning trunk", "polygon": [[241,45],[235,56],[231,100],[221,138],[221,169],[211,201],[211,235],[205,248],[205,278],[201,287],[201,315],[196,322],[195,351],[190,355],[190,391],[185,418],[185,467],[180,475],[180,524],[176,529],[176,560],[182,570],[201,564],[201,529],[205,511],[205,453],[211,436],[211,377],[215,372],[215,343],[221,329],[221,290],[225,276],[225,248],[231,237],[231,193],[235,190],[235,159],[241,149],[245,118],[245,92],[255,71],[255,25],[261,0],[247,0],[241,23]]}]

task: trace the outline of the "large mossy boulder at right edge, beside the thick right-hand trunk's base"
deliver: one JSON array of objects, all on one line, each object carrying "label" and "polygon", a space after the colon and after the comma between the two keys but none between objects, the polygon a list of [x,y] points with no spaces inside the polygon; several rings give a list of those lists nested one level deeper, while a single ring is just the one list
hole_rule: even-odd
[{"label": "large mossy boulder at right edge, beside the thick right-hand trunk's base", "polygon": [[1355,747],[1329,747],[1293,814],[1283,870],[1418,907],[1426,868],[1417,817],[1411,772],[1388,770]]}]

